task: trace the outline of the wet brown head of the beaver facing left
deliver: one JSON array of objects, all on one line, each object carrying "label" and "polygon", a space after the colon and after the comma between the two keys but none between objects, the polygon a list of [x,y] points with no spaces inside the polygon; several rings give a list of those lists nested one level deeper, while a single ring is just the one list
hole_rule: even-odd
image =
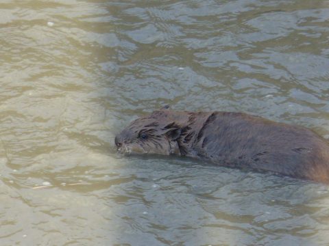
[{"label": "wet brown head of the beaver facing left", "polygon": [[180,154],[177,139],[186,121],[185,114],[167,110],[154,111],[134,120],[114,139],[123,154]]}]

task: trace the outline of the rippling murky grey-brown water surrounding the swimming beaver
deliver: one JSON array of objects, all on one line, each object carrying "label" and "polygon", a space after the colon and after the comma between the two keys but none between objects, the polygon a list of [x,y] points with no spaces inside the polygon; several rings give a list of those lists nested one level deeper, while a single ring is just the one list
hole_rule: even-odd
[{"label": "rippling murky grey-brown water surrounding the swimming beaver", "polygon": [[166,104],[329,138],[328,1],[2,0],[0,48],[1,245],[328,245],[324,184],[113,143]]}]

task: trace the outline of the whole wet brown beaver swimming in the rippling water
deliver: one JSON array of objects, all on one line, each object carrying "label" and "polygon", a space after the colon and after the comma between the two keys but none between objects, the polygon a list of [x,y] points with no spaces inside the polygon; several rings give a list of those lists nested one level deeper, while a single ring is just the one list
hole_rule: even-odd
[{"label": "whole wet brown beaver swimming in the rippling water", "polygon": [[227,167],[262,169],[329,183],[329,145],[313,131],[234,112],[163,108],[117,137],[123,154],[178,154]]}]

